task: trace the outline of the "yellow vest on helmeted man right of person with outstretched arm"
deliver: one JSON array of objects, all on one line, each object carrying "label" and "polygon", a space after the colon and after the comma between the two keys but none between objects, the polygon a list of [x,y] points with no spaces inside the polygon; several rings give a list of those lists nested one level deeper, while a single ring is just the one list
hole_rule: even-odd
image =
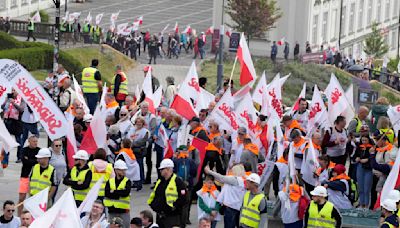
[{"label": "yellow vest on helmeted man right of person with outstretched arm", "polygon": [[247,191],[243,198],[242,213],[240,216],[240,224],[248,227],[257,228],[261,220],[261,212],[258,209],[261,200],[265,198],[263,193],[259,193],[249,201],[250,191]]}]

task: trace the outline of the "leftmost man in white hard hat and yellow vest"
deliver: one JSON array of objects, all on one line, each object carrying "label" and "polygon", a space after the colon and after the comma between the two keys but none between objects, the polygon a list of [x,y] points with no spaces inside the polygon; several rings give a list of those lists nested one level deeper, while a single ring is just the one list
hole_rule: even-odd
[{"label": "leftmost man in white hard hat and yellow vest", "polygon": [[35,156],[38,160],[31,172],[29,181],[29,193],[31,196],[39,193],[43,189],[49,187],[49,199],[51,199],[56,191],[55,183],[55,169],[49,164],[51,157],[51,152],[49,148],[42,148],[39,150],[38,154]]}]

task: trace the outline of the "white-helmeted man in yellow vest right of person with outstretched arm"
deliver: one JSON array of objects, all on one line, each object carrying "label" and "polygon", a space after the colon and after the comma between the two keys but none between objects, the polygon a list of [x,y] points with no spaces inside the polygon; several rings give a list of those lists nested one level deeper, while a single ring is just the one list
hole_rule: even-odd
[{"label": "white-helmeted man in yellow vest right of person with outstretched arm", "polygon": [[255,173],[246,178],[247,192],[244,194],[243,205],[240,211],[240,227],[264,227],[261,222],[261,213],[266,213],[267,199],[264,193],[258,190],[260,176]]}]

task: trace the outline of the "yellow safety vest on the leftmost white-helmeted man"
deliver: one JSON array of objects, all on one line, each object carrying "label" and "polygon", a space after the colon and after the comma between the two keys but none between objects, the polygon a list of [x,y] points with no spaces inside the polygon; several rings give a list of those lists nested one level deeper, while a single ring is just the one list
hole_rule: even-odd
[{"label": "yellow safety vest on the leftmost white-helmeted man", "polygon": [[29,181],[29,193],[31,196],[42,191],[43,189],[51,186],[51,174],[53,174],[54,167],[49,165],[42,174],[40,174],[40,165],[36,164],[32,170],[31,180]]}]

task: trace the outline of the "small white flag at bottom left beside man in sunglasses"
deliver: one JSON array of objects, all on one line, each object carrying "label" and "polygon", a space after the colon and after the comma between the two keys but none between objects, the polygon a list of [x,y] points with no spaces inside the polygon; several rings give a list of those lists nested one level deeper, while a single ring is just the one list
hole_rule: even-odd
[{"label": "small white flag at bottom left beside man in sunglasses", "polygon": [[47,210],[48,198],[49,187],[26,199],[24,201],[24,208],[31,213],[34,219],[38,219],[44,215]]}]

